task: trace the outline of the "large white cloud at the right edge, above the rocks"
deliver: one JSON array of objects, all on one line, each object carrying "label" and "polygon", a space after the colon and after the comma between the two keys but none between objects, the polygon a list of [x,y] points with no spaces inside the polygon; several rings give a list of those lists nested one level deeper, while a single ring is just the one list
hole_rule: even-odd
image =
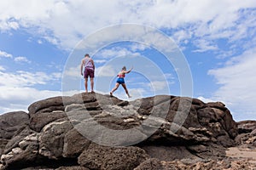
[{"label": "large white cloud at the right edge, above the rocks", "polygon": [[223,101],[236,113],[256,116],[256,48],[230,59],[228,65],[208,71],[220,86],[214,100]]}]

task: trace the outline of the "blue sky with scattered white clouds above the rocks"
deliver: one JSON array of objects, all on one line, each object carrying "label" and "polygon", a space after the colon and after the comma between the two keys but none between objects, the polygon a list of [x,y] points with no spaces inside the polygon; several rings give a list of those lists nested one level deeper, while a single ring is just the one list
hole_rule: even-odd
[{"label": "blue sky with scattered white clouds above the rocks", "polygon": [[[224,102],[236,121],[256,119],[255,1],[9,0],[0,2],[0,11],[0,114],[27,111],[38,99],[62,95],[63,75],[79,80],[70,94],[83,91],[79,61],[86,50],[77,56],[79,45],[109,26],[130,23],[150,26],[177,44],[189,65],[194,98]],[[125,78],[132,99],[181,95],[183,68],[160,48],[117,39],[90,55],[99,93],[108,94],[119,69],[133,65]],[[115,95],[126,99],[122,88]]]}]

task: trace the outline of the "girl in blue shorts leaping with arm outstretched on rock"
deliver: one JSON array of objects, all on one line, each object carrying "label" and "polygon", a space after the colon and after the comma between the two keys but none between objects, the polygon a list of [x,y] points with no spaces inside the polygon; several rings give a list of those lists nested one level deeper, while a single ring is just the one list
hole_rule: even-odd
[{"label": "girl in blue shorts leaping with arm outstretched on rock", "polygon": [[128,90],[127,90],[126,85],[125,85],[125,74],[131,72],[131,70],[132,70],[132,67],[129,71],[126,71],[126,67],[123,66],[122,70],[119,71],[119,74],[117,76],[118,79],[116,81],[115,87],[110,92],[110,96],[113,96],[113,92],[115,90],[117,90],[119,88],[119,85],[121,84],[122,87],[125,89],[125,93],[128,95],[129,98],[131,98],[131,95],[128,93]]}]

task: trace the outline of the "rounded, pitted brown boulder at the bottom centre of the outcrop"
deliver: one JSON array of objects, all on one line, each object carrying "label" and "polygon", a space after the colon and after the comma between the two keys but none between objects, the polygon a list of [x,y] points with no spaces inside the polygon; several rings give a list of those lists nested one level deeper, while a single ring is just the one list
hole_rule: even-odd
[{"label": "rounded, pitted brown boulder at the bottom centre of the outcrop", "polygon": [[79,156],[79,164],[90,169],[133,169],[148,158],[138,147],[107,147],[90,144]]}]

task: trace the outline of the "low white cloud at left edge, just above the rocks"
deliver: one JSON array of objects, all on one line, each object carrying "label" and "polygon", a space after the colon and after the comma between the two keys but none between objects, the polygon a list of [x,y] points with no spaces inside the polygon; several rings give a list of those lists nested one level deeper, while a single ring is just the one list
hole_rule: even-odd
[{"label": "low white cloud at left edge, just above the rocks", "polygon": [[61,73],[0,71],[0,114],[9,111],[27,111],[27,107],[39,99],[61,95],[60,91],[39,90],[40,84],[58,82]]}]

